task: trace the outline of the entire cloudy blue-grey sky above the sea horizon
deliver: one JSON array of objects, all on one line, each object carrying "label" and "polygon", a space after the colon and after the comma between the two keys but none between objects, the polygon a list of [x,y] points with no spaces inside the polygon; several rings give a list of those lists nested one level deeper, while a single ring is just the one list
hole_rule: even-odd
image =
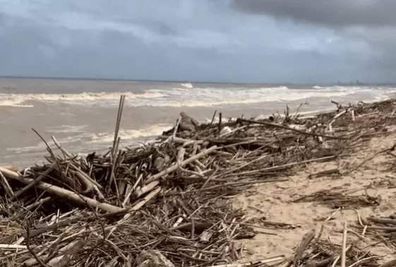
[{"label": "entire cloudy blue-grey sky above the sea horizon", "polygon": [[0,76],[396,81],[395,0],[0,0]]}]

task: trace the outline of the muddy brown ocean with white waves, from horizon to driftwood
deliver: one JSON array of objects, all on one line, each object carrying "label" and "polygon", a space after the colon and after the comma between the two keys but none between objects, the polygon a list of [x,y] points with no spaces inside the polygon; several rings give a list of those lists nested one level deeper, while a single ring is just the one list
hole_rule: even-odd
[{"label": "muddy brown ocean with white waves, from horizon to driftwood", "polygon": [[[121,147],[139,146],[172,128],[184,111],[198,121],[333,109],[395,97],[396,88],[320,85],[244,85],[44,78],[0,78],[0,165],[28,167],[48,155],[35,129],[71,153],[104,152],[114,138],[121,94]],[[53,146],[52,146],[53,147]]]}]

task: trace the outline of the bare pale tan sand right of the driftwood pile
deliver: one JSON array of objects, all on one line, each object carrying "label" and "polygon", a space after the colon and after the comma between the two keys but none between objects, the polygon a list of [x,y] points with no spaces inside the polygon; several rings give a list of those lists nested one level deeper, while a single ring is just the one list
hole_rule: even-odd
[{"label": "bare pale tan sand right of the driftwood pile", "polygon": [[[308,230],[315,229],[319,232],[320,225],[324,225],[322,238],[330,238],[336,244],[341,244],[342,222],[348,221],[348,225],[357,222],[354,210],[338,211],[334,218],[328,222],[316,221],[318,218],[328,218],[335,209],[317,203],[289,203],[301,195],[313,194],[316,191],[331,189],[342,186],[343,189],[356,189],[355,195],[364,194],[364,186],[382,182],[384,185],[373,185],[367,189],[371,196],[380,195],[382,201],[380,206],[361,208],[359,213],[362,218],[369,215],[390,215],[396,213],[396,189],[387,189],[387,183],[396,184],[396,174],[387,171],[390,162],[396,159],[391,155],[380,154],[376,158],[366,162],[358,170],[350,175],[337,177],[320,177],[308,179],[309,174],[330,170],[340,164],[349,163],[353,166],[373,156],[376,152],[391,148],[396,143],[396,133],[383,138],[373,138],[364,150],[357,151],[342,160],[334,162],[313,163],[307,165],[296,175],[288,177],[288,182],[268,183],[257,186],[251,192],[234,198],[234,208],[242,208],[246,211],[248,218],[265,217],[270,222],[289,223],[298,225],[292,230],[268,230],[255,228],[261,232],[272,232],[276,235],[258,234],[250,240],[244,240],[244,259],[241,261],[256,261],[269,256],[285,254],[290,256],[295,247],[299,246],[301,238]],[[252,208],[254,207],[254,208]],[[261,210],[258,211],[258,210]],[[352,228],[356,230],[357,228]],[[356,230],[361,232],[360,230]],[[356,236],[349,233],[348,244],[356,244],[359,248],[375,244],[378,239],[366,239],[366,242],[359,240]],[[388,249],[384,244],[376,244],[370,251],[373,254],[385,256],[384,260],[396,258],[395,251]]]}]

